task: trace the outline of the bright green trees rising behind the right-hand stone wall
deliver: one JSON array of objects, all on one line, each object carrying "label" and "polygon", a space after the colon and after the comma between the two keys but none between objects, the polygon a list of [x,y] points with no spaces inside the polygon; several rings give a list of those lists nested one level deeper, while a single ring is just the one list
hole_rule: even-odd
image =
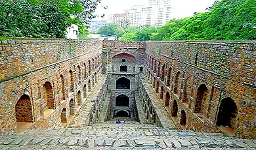
[{"label": "bright green trees rising behind the right-hand stone wall", "polygon": [[207,10],[171,20],[163,27],[147,26],[131,31],[129,27],[122,29],[116,25],[112,32],[98,33],[117,35],[121,40],[256,40],[255,0],[215,1]]}]

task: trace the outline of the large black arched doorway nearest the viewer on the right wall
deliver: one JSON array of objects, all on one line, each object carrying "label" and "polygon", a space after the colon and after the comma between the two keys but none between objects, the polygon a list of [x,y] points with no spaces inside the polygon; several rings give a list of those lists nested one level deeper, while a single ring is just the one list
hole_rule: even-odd
[{"label": "large black arched doorway nearest the viewer on the right wall", "polygon": [[237,113],[238,108],[236,102],[230,97],[224,98],[221,100],[221,105],[219,106],[216,125],[234,128]]}]

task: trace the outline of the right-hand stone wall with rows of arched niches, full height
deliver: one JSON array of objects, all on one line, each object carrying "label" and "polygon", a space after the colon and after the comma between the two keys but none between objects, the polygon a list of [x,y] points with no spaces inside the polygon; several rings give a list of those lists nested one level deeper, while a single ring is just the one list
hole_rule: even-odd
[{"label": "right-hand stone wall with rows of arched niches, full height", "polygon": [[145,74],[178,128],[221,132],[221,102],[232,98],[237,115],[227,129],[256,138],[255,52],[256,42],[146,42]]}]

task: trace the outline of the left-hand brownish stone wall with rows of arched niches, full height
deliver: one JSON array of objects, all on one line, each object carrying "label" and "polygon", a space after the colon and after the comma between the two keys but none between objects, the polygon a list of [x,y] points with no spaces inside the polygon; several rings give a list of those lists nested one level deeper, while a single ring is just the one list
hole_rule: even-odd
[{"label": "left-hand brownish stone wall with rows of arched niches, full height", "polygon": [[[70,123],[70,108],[74,113],[81,108],[77,94],[81,93],[83,103],[102,73],[100,41],[5,40],[0,48],[2,134],[16,132],[16,111],[23,108],[15,106],[22,95],[28,95],[32,105],[27,111],[33,116],[30,128],[59,127],[63,108]],[[45,83],[51,83],[51,88],[45,90]],[[74,106],[70,106],[72,99]]]}]

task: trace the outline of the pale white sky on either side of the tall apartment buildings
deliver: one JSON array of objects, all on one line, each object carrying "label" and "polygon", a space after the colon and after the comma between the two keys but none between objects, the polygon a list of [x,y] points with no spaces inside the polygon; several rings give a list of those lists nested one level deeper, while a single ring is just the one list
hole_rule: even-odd
[{"label": "pale white sky on either side of the tall apartment buildings", "polygon": [[[95,14],[121,13],[133,5],[146,5],[148,0],[102,0]],[[194,12],[205,12],[205,8],[211,7],[215,0],[172,0],[171,8],[173,18],[192,16]],[[107,9],[102,8],[108,7]]]}]

